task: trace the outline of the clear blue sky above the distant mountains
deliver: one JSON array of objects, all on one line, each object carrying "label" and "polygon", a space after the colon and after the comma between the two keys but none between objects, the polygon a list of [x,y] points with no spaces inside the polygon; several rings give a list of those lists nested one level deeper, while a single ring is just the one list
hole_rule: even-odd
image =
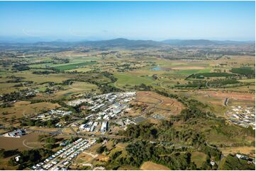
[{"label": "clear blue sky above the distant mountains", "polygon": [[255,40],[255,1],[0,1],[0,36]]}]

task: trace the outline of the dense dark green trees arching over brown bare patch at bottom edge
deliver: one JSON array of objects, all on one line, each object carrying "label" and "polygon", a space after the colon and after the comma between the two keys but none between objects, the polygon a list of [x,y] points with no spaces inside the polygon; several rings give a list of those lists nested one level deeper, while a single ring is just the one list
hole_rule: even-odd
[{"label": "dense dark green trees arching over brown bare patch at bottom edge", "polygon": [[[121,153],[112,156],[112,165],[132,165],[140,167],[145,161],[153,161],[162,165],[166,165],[170,170],[196,170],[196,165],[191,163],[190,153],[173,153],[173,148],[165,148],[164,146],[155,146],[147,141],[130,143],[126,151],[126,158],[119,157]],[[182,150],[181,150],[182,151]],[[115,169],[115,168],[113,168]]]}]

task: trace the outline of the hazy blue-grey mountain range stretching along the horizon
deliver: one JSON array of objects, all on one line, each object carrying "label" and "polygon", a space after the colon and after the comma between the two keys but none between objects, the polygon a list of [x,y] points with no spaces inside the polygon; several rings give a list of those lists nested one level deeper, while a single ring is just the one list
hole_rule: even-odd
[{"label": "hazy blue-grey mountain range stretching along the horizon", "polygon": [[[1,44],[13,44],[14,42],[1,41]],[[21,45],[21,43],[19,43]],[[210,45],[255,45],[253,41],[220,41],[220,40],[128,40],[124,38],[118,38],[113,40],[98,40],[98,41],[77,41],[77,42],[65,42],[64,40],[55,40],[51,42],[26,42],[23,43],[30,46],[83,46],[83,47],[125,47],[125,48],[136,48],[136,47],[161,47],[161,46],[210,46]]]}]

